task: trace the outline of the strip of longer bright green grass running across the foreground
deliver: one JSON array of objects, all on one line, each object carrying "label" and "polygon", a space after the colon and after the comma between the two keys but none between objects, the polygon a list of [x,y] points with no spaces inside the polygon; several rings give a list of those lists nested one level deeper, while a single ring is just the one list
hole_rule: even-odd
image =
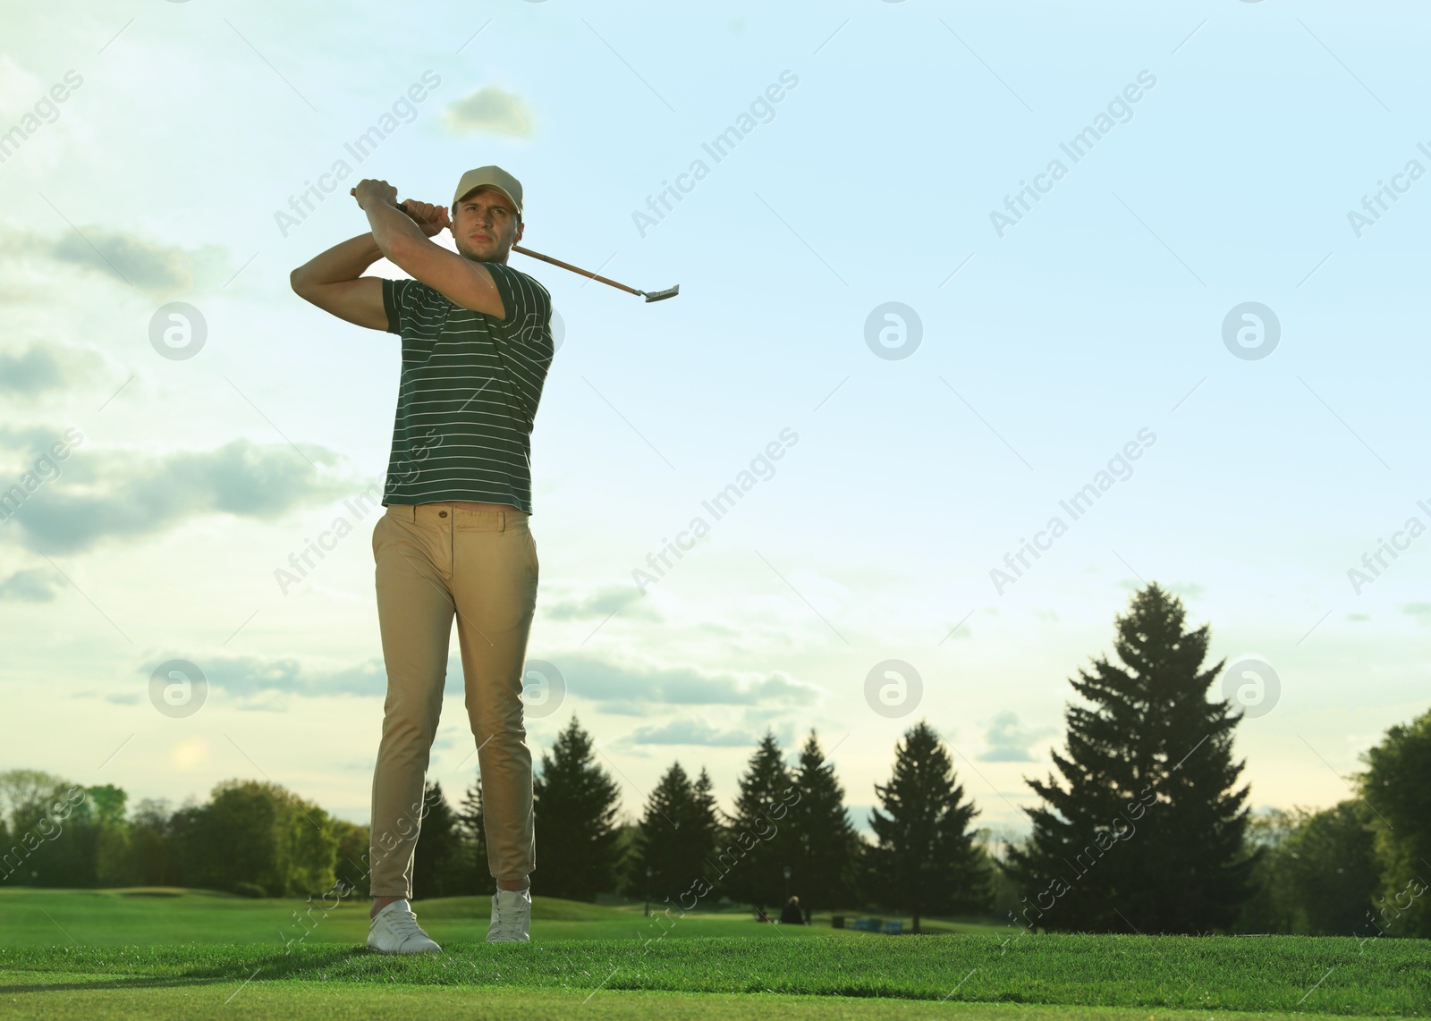
[{"label": "strip of longer bright green grass running across the foreground", "polygon": [[[677,928],[680,922],[677,922]],[[1352,938],[1039,935],[890,938],[558,939],[452,942],[432,957],[391,958],[353,945],[11,947],[10,977],[109,988],[216,985],[455,987],[590,994],[780,994],[960,1002],[1126,1007],[1149,1012],[1425,1015],[1431,944]],[[84,977],[77,980],[76,977]],[[116,995],[116,1001],[122,997]]]}]

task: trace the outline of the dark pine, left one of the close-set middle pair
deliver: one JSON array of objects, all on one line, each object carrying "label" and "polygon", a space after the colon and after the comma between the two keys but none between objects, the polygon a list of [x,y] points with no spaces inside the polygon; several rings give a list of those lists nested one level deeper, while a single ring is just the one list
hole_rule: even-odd
[{"label": "dark pine, left one of the close-set middle pair", "polygon": [[723,834],[713,864],[716,885],[736,901],[757,909],[784,904],[786,867],[794,869],[798,847],[790,828],[790,809],[800,792],[786,768],[774,734],[766,734],[740,778],[736,814]]}]

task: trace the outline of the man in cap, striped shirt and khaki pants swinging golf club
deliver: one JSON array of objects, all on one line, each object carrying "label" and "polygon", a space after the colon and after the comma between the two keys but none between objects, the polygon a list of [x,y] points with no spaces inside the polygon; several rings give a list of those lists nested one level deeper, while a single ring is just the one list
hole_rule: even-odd
[{"label": "man in cap, striped shirt and khaki pants swinging golf club", "polygon": [[[293,270],[292,285],[325,312],[402,336],[388,509],[372,533],[388,698],[372,778],[368,947],[441,950],[409,898],[454,613],[497,879],[487,938],[525,941],[535,867],[521,702],[538,573],[531,432],[552,357],[551,296],[507,265],[522,236],[522,186],[501,167],[462,174],[451,219],[424,202],[404,212],[384,180],[359,182],[353,197],[372,232]],[[444,229],[456,255],[429,240]],[[414,279],[362,276],[379,257]]]}]

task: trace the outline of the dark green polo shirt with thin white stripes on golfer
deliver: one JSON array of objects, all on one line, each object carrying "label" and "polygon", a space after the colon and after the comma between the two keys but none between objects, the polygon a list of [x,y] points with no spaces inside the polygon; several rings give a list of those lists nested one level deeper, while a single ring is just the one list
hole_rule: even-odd
[{"label": "dark green polo shirt with thin white stripes on golfer", "polygon": [[484,262],[505,319],[452,303],[421,280],[384,280],[402,378],[382,503],[511,503],[531,513],[531,433],[551,366],[551,295]]}]

